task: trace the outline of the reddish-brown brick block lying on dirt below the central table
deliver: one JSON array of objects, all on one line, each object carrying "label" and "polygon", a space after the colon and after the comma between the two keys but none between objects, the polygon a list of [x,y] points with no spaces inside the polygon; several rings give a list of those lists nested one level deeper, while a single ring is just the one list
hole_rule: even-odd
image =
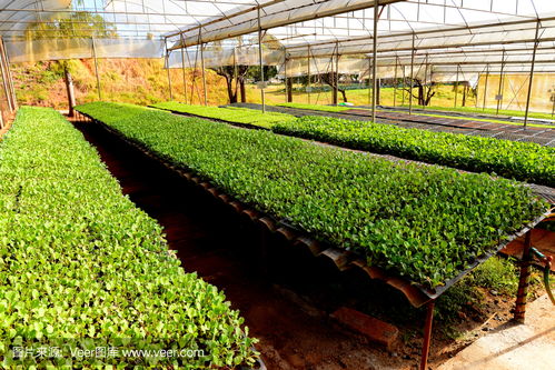
[{"label": "reddish-brown brick block lying on dirt below the central table", "polygon": [[395,347],[399,337],[399,330],[395,326],[346,307],[331,313],[331,318],[389,350]]}]

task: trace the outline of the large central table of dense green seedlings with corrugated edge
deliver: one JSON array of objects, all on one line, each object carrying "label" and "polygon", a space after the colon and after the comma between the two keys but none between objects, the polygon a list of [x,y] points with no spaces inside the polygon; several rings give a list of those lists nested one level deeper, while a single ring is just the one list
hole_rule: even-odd
[{"label": "large central table of dense green seedlings with corrugated edge", "polygon": [[78,110],[245,204],[432,290],[547,209],[523,184],[487,174],[115,103]]}]

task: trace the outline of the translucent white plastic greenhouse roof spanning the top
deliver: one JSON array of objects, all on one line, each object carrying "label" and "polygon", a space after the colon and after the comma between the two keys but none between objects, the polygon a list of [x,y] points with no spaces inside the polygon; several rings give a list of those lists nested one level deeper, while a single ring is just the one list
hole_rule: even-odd
[{"label": "translucent white plastic greenhouse roof spanning the top", "polygon": [[[365,59],[373,46],[375,0],[0,0],[0,34],[11,61],[70,58],[160,58],[169,48],[169,67],[182,67],[180,49],[187,46],[187,66],[196,64],[206,43],[207,66],[258,62],[258,27],[264,30],[265,63],[301,73],[307,62],[329,64]],[[415,61],[436,71],[528,71],[536,23],[538,71],[555,70],[555,1],[553,0],[379,0],[378,64]],[[60,34],[56,24],[76,12],[98,14],[115,29],[110,38]],[[258,24],[260,12],[260,24]],[[75,23],[73,23],[75,22]],[[36,24],[53,26],[39,40],[26,32]],[[79,22],[72,21],[79,29]],[[278,48],[276,48],[276,44]],[[95,48],[96,50],[93,50]],[[271,49],[271,50],[267,50]],[[239,51],[235,51],[239,50]],[[298,60],[295,62],[295,60]],[[319,60],[319,61],[317,61]],[[295,72],[295,66],[298,66]],[[313,69],[315,71],[316,69]],[[363,72],[363,71],[360,71]]]}]

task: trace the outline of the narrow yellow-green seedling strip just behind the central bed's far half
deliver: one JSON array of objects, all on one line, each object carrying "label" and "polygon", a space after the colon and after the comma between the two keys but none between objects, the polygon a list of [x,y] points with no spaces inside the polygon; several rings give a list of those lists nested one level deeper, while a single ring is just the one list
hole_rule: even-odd
[{"label": "narrow yellow-green seedling strip just behind the central bed's far half", "polygon": [[205,107],[205,106],[189,106],[175,101],[161,102],[151,104],[152,108],[169,110],[176,113],[186,113],[190,116],[204,117],[216,119],[230,123],[242,123],[254,126],[255,128],[270,129],[278,122],[295,121],[295,116],[277,112],[262,113],[259,110],[237,107]]}]

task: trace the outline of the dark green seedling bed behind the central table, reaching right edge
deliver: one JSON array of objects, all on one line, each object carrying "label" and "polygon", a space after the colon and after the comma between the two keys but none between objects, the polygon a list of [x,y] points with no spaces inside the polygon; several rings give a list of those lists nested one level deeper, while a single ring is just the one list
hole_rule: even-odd
[{"label": "dark green seedling bed behind the central table, reaching right edge", "polygon": [[278,123],[272,131],[555,187],[555,148],[533,142],[430,132],[328,117],[303,117],[295,123]]}]

